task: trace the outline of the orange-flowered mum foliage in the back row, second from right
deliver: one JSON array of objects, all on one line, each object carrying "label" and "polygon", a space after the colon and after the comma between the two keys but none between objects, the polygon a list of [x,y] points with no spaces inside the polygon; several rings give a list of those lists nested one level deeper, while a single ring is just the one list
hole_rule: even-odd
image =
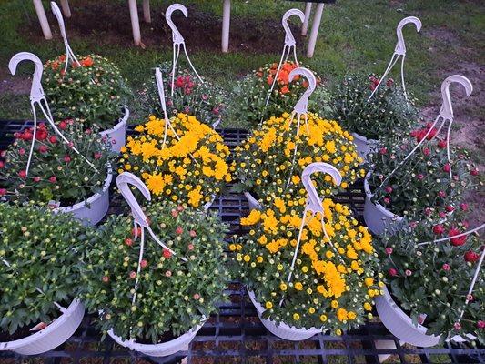
[{"label": "orange-flowered mum foliage in the back row, second from right", "polygon": [[[289,82],[289,73],[296,68],[293,62],[285,62],[278,72],[275,88],[265,107],[269,90],[277,74],[278,64],[262,66],[258,70],[243,77],[233,89],[229,106],[229,119],[237,123],[248,123],[249,126],[259,126],[262,120],[271,116],[281,115],[292,110],[298,98],[308,87],[308,81],[296,76]],[[308,100],[308,111],[318,113],[320,116],[329,116],[329,95],[327,89],[317,78],[317,88]]]}]

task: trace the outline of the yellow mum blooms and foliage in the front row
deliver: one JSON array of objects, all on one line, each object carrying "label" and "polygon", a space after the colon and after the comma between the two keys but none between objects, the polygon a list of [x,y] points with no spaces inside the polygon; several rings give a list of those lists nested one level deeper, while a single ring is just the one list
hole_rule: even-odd
[{"label": "yellow mum blooms and foliage in the front row", "polygon": [[265,318],[340,335],[372,317],[373,298],[383,287],[372,238],[348,207],[326,198],[323,220],[319,212],[305,217],[295,252],[305,201],[295,202],[278,198],[241,219],[251,230],[247,241],[229,245],[236,252],[237,274],[266,308]]}]

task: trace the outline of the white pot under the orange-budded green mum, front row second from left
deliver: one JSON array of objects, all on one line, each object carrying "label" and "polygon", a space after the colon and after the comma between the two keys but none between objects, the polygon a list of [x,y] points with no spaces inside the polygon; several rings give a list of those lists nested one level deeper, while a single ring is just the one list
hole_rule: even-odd
[{"label": "white pot under the orange-budded green mum, front row second from left", "polygon": [[136,350],[151,357],[167,357],[178,351],[187,350],[188,344],[195,338],[197,331],[202,328],[203,325],[204,323],[200,323],[197,327],[191,329],[182,336],[160,344],[138,344],[135,340],[121,339],[115,334],[113,329],[110,329],[107,334],[124,348]]}]

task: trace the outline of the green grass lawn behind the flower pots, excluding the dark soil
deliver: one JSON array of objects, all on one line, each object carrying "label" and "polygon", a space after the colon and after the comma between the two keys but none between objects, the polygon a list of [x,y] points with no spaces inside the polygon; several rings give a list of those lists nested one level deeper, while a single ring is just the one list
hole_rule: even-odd
[{"label": "green grass lawn behind the flower pots, excluding the dark soil", "polygon": [[[107,0],[104,0],[106,3]],[[71,0],[73,13],[80,3],[93,3],[94,0]],[[115,11],[127,12],[126,1],[108,2]],[[152,0],[152,16],[159,16],[172,1]],[[268,19],[278,20],[290,7],[302,8],[302,3],[283,0],[249,0],[232,2],[232,19],[254,19],[264,28]],[[221,16],[222,2],[216,0],[186,0],[198,11]],[[89,5],[89,4],[87,4]],[[141,6],[140,6],[141,7]],[[47,2],[45,2],[45,8]],[[301,60],[311,66],[330,84],[349,72],[375,72],[381,74],[389,62],[396,44],[395,27],[407,15],[417,15],[423,22],[421,33],[412,25],[404,28],[408,48],[406,59],[406,78],[409,90],[419,98],[420,105],[429,103],[431,92],[439,89],[442,74],[440,68],[446,67],[457,58],[466,57],[467,62],[480,64],[485,49],[485,5],[480,1],[409,0],[388,1],[339,0],[337,5],[329,5],[324,10],[315,56]],[[190,16],[190,14],[189,14]],[[68,22],[68,20],[67,20]],[[25,32],[25,25],[33,25],[40,35],[35,11],[30,1],[12,0],[0,4],[0,32],[3,45],[0,48],[0,76],[7,76],[6,64],[11,56],[19,51],[31,51],[45,60],[63,52],[62,42],[56,37],[52,41],[41,40]],[[35,26],[37,26],[35,28]],[[56,25],[51,22],[56,29]],[[248,30],[250,31],[250,30]],[[446,31],[452,36],[436,36]],[[130,32],[126,28],[126,32]],[[102,36],[102,35],[100,35]],[[142,35],[143,36],[143,35]],[[73,49],[79,54],[92,52],[107,56],[116,62],[128,77],[134,88],[138,88],[152,72],[152,68],[171,57],[167,46],[149,46],[147,49],[121,45],[99,45],[98,36],[76,36],[70,39]],[[283,43],[283,39],[275,39]],[[261,45],[264,48],[265,45]],[[278,59],[278,54],[255,53],[213,53],[188,50],[197,68],[205,76],[212,77],[217,83],[230,89],[238,76],[267,62]],[[303,54],[303,46],[298,45],[298,53]],[[397,70],[397,69],[396,69]],[[28,75],[28,66],[21,67],[20,74]],[[397,74],[393,75],[398,78]],[[24,117],[25,98],[12,101],[12,95],[0,96],[0,117]]]}]

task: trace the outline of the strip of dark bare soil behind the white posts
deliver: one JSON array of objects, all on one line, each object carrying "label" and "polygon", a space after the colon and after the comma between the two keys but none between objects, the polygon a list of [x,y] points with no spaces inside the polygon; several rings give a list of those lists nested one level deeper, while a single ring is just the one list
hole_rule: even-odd
[{"label": "strip of dark bare soil behind the white posts", "polygon": [[[73,16],[66,21],[66,32],[70,38],[92,37],[96,45],[126,45],[133,46],[133,35],[128,6],[117,5],[116,11],[110,2],[94,0],[77,1],[72,6]],[[152,23],[143,21],[141,6],[138,6],[140,31],[143,47],[172,46],[172,31],[165,20],[165,7],[152,7]],[[220,52],[222,19],[220,16],[207,14],[197,10],[197,7],[187,6],[188,17],[177,11],[172,20],[177,25],[180,34],[185,37],[187,48],[190,50],[208,50]],[[47,17],[55,36],[56,18],[48,12]],[[303,44],[298,27],[291,25],[292,32],[298,44]],[[248,32],[248,29],[251,31]],[[32,21],[25,27],[25,32],[35,42],[45,42],[39,25]],[[285,33],[278,20],[258,20],[254,18],[231,17],[230,51],[245,51],[251,53],[279,53]],[[275,42],[281,39],[281,42]]]}]

